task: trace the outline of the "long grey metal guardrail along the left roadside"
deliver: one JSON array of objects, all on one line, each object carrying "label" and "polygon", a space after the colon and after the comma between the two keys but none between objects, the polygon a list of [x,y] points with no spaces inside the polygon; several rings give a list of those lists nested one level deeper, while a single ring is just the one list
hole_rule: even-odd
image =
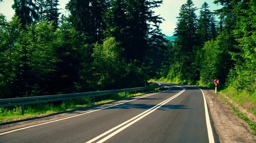
[{"label": "long grey metal guardrail along the left roadside", "polygon": [[114,93],[126,93],[135,91],[135,94],[139,90],[147,90],[147,89],[154,89],[160,88],[161,84],[153,83],[158,86],[154,87],[136,87],[136,88],[127,88],[127,89],[120,89],[120,90],[105,90],[105,91],[95,91],[95,92],[86,92],[86,93],[71,93],[71,94],[59,94],[59,95],[46,95],[46,96],[34,96],[34,97],[23,97],[23,98],[8,98],[8,99],[0,99],[0,107],[11,107],[16,105],[22,106],[22,115],[24,114],[24,105],[26,104],[36,104],[36,103],[45,103],[51,101],[65,101],[66,109],[67,109],[67,100],[68,99],[76,99],[76,98],[83,98],[83,97],[92,97],[93,96],[93,103],[95,102],[95,96],[100,95],[110,95]]}]

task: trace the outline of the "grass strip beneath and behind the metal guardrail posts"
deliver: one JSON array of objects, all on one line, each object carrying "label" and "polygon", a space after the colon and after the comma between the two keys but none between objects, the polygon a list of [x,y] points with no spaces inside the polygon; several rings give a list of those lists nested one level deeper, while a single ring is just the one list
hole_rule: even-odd
[{"label": "grass strip beneath and behind the metal guardrail posts", "polygon": [[[151,86],[151,85],[150,85]],[[155,86],[155,85],[154,85]],[[148,91],[140,91],[139,93],[116,93],[109,96],[96,96],[95,103],[92,102],[92,97],[86,98],[77,98],[68,100],[68,109],[79,109],[84,107],[92,107],[93,105],[105,104],[111,101],[116,101],[120,99],[127,99],[138,95],[148,94],[157,92],[159,90],[152,89]],[[53,114],[56,112],[66,111],[65,102],[59,102],[58,104],[52,103],[40,103],[40,104],[29,104],[25,105],[25,114],[21,114],[21,106],[15,107],[0,107],[0,123],[9,122],[9,121],[17,121],[26,118],[34,118],[38,116],[44,116]]]}]

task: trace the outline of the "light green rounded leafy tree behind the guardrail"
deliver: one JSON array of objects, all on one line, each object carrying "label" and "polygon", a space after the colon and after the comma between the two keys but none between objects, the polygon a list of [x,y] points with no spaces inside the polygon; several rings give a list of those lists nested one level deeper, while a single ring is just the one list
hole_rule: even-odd
[{"label": "light green rounded leafy tree behind the guardrail", "polygon": [[121,56],[123,49],[111,37],[105,39],[103,44],[96,44],[92,57],[94,76],[99,89],[113,89],[122,87],[125,75],[125,61]]}]

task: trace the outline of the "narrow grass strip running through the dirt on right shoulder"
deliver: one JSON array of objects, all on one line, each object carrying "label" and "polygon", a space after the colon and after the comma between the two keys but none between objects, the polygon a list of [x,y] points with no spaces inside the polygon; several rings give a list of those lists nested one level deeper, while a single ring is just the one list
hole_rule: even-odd
[{"label": "narrow grass strip running through the dirt on right shoulder", "polygon": [[246,123],[250,126],[250,129],[254,131],[253,135],[256,135],[256,124],[253,121],[251,121],[244,113],[242,113],[237,107],[231,104],[230,101],[227,98],[225,98],[223,95],[218,93],[218,96],[221,98],[221,100],[225,101],[231,107],[234,115],[246,121]]}]

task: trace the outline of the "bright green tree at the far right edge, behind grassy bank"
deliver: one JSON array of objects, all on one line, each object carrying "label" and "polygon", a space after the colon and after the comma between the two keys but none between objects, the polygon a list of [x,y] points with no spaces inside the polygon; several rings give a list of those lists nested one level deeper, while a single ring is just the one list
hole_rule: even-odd
[{"label": "bright green tree at the far right edge, behind grassy bank", "polygon": [[231,52],[232,59],[236,62],[231,70],[230,84],[238,91],[256,91],[256,1],[243,0],[234,7],[237,17],[234,36],[239,43],[238,52]]}]

